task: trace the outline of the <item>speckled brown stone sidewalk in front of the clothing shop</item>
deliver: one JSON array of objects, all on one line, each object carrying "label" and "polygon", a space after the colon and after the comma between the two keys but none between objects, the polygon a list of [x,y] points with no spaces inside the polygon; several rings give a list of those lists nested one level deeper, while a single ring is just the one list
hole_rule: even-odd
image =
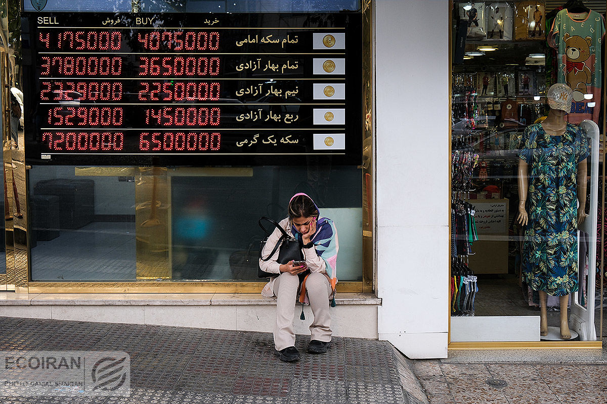
[{"label": "speckled brown stone sidewalk in front of the clothing shop", "polygon": [[606,346],[449,351],[413,368],[432,404],[605,404]]}]

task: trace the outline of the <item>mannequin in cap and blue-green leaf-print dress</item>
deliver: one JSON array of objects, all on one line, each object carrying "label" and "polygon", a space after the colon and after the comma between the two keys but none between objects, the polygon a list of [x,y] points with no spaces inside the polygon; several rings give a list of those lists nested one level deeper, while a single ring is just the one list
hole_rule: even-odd
[{"label": "mannequin in cap and blue-green leaf-print dress", "polygon": [[[517,221],[526,228],[523,277],[540,294],[540,335],[548,335],[546,305],[550,293],[560,297],[560,333],[563,340],[568,340],[571,339],[569,293],[578,287],[577,226],[586,218],[588,141],[577,125],[565,121],[571,110],[571,88],[555,84],[547,96],[551,108],[548,118],[527,127],[521,139]],[[530,165],[533,165],[531,184]],[[571,183],[572,178],[575,184]],[[558,256],[563,250],[566,253]]]}]

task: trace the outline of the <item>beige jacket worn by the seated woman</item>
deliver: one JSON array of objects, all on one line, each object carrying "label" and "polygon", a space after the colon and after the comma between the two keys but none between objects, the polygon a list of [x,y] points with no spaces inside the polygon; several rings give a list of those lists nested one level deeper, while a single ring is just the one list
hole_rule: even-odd
[{"label": "beige jacket worn by the seated woman", "polygon": [[[288,218],[280,220],[279,225],[287,232],[289,236],[293,236],[293,233],[291,233],[291,225],[289,224]],[[281,236],[282,233],[280,233],[280,230],[275,228],[272,234],[270,234],[270,237],[268,237],[268,241],[266,242],[265,246],[263,247],[262,257],[265,258],[268,256],[268,254],[272,252],[274,246],[276,245]],[[308,265],[308,268],[310,268],[311,272],[319,272],[325,274],[327,273],[327,263],[325,263],[325,260],[319,257],[318,254],[316,254],[316,248],[302,248],[302,252],[304,253],[305,263],[306,265]],[[262,296],[274,296],[274,281],[276,280],[276,277],[280,275],[280,264],[276,262],[276,260],[278,259],[278,253],[279,250],[276,250],[276,253],[274,253],[274,255],[267,261],[263,261],[261,259],[259,260],[259,267],[262,268],[263,271],[276,274],[276,276],[270,278],[270,282],[266,283],[266,285],[263,286]]]}]

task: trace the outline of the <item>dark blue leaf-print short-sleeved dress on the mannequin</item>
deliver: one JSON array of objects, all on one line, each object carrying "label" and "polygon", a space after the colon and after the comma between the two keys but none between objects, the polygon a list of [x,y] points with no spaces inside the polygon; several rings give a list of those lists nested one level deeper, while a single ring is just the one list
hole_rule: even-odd
[{"label": "dark blue leaf-print short-sleeved dress on the mannequin", "polygon": [[550,136],[534,124],[520,148],[518,157],[529,164],[523,280],[532,290],[565,296],[578,288],[577,164],[588,157],[588,138],[577,125]]}]

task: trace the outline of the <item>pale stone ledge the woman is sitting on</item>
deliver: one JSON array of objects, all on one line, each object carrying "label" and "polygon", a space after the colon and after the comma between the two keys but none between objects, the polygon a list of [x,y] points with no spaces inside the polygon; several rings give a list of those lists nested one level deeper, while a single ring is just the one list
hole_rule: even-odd
[{"label": "pale stone ledge the woman is sitting on", "polygon": [[[381,305],[371,293],[338,293],[337,305]],[[33,293],[0,291],[0,305],[208,306],[276,305],[259,293]]]}]

